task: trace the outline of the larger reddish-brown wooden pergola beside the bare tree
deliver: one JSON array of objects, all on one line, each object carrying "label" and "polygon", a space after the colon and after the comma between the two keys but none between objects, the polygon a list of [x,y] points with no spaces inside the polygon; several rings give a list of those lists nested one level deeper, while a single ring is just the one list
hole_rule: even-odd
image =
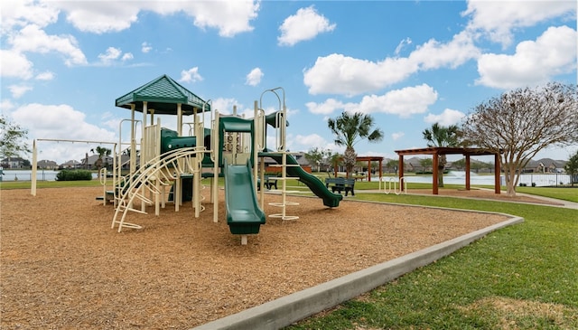
[{"label": "larger reddish-brown wooden pergola beside the bare tree", "polygon": [[[399,156],[399,180],[404,177],[404,156],[406,155],[432,155],[432,193],[438,194],[438,163],[440,155],[463,155],[466,158],[466,190],[470,190],[470,156],[494,156],[494,193],[500,193],[499,189],[499,153],[494,151],[489,151],[488,149],[481,148],[467,148],[467,147],[426,147],[419,149],[406,149],[406,150],[396,150],[396,154]],[[401,189],[404,189],[404,185],[400,184]]]}]

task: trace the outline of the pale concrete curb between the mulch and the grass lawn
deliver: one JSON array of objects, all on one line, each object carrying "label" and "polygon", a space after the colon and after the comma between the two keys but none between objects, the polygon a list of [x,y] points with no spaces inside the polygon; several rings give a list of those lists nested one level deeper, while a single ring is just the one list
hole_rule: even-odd
[{"label": "pale concrete curb between the mulch and the grass lawn", "polygon": [[263,305],[197,326],[193,330],[279,329],[291,325],[447,256],[472,241],[479,240],[491,231],[524,222],[521,217],[508,216],[511,217],[508,221],[499,222],[312,288],[306,288],[289,296],[280,297]]}]

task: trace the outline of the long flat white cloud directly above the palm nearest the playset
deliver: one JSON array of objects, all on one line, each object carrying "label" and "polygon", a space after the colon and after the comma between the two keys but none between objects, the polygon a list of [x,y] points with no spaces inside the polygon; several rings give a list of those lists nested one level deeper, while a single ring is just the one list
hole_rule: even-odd
[{"label": "long flat white cloud directly above the palm nearest the playset", "polygon": [[386,113],[400,118],[421,114],[437,100],[437,92],[422,84],[401,90],[390,90],[383,95],[366,95],[359,103],[326,99],[322,103],[308,102],[305,106],[314,114],[330,115],[336,110],[362,113]]}]

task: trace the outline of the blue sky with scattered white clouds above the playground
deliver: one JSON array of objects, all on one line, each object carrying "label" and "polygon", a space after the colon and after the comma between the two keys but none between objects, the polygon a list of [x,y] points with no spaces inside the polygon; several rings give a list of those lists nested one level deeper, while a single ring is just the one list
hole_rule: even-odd
[{"label": "blue sky with scattered white clouds above the playground", "polygon": [[[167,74],[252,117],[283,87],[291,151],[334,146],[327,118],[370,114],[359,156],[423,147],[433,123],[547,81],[576,84],[575,1],[28,1],[1,6],[1,108],[29,137],[118,141],[115,99]],[[269,94],[264,108],[277,101]],[[174,128],[174,118],[162,118]],[[124,135],[124,134],[123,134]],[[39,145],[79,160],[98,145]],[[271,144],[270,144],[271,146]],[[578,146],[538,154],[568,159]],[[31,158],[30,158],[31,159]]]}]

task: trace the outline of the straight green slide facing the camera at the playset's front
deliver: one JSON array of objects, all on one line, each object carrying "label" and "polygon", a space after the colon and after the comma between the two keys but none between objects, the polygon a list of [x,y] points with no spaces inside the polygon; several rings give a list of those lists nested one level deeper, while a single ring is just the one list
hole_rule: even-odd
[{"label": "straight green slide facing the camera at the playset's front", "polygon": [[250,165],[225,164],[224,174],[228,228],[232,234],[258,233],[266,217],[256,200]]}]

